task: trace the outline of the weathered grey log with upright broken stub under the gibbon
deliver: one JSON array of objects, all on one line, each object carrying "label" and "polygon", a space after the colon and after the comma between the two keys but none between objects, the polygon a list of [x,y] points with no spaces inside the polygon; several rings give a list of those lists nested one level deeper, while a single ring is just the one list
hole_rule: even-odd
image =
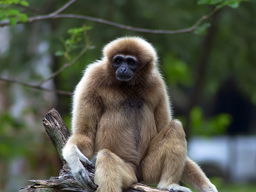
[{"label": "weathered grey log with upright broken stub under the gibbon", "polygon": [[[63,163],[63,168],[60,170],[58,177],[51,177],[48,180],[28,180],[32,182],[32,185],[26,186],[25,188],[19,189],[19,192],[58,192],[58,191],[80,191],[89,192],[88,190],[81,188],[74,179],[68,164],[63,159],[61,150],[67,142],[70,132],[68,131],[67,125],[63,122],[60,114],[56,109],[51,109],[44,117],[43,124],[45,131],[47,132],[52,144],[56,148],[58,155]],[[94,174],[89,171],[90,178],[94,177]],[[166,192],[167,190],[152,188],[145,184],[137,183],[126,190],[126,192]]]}]

